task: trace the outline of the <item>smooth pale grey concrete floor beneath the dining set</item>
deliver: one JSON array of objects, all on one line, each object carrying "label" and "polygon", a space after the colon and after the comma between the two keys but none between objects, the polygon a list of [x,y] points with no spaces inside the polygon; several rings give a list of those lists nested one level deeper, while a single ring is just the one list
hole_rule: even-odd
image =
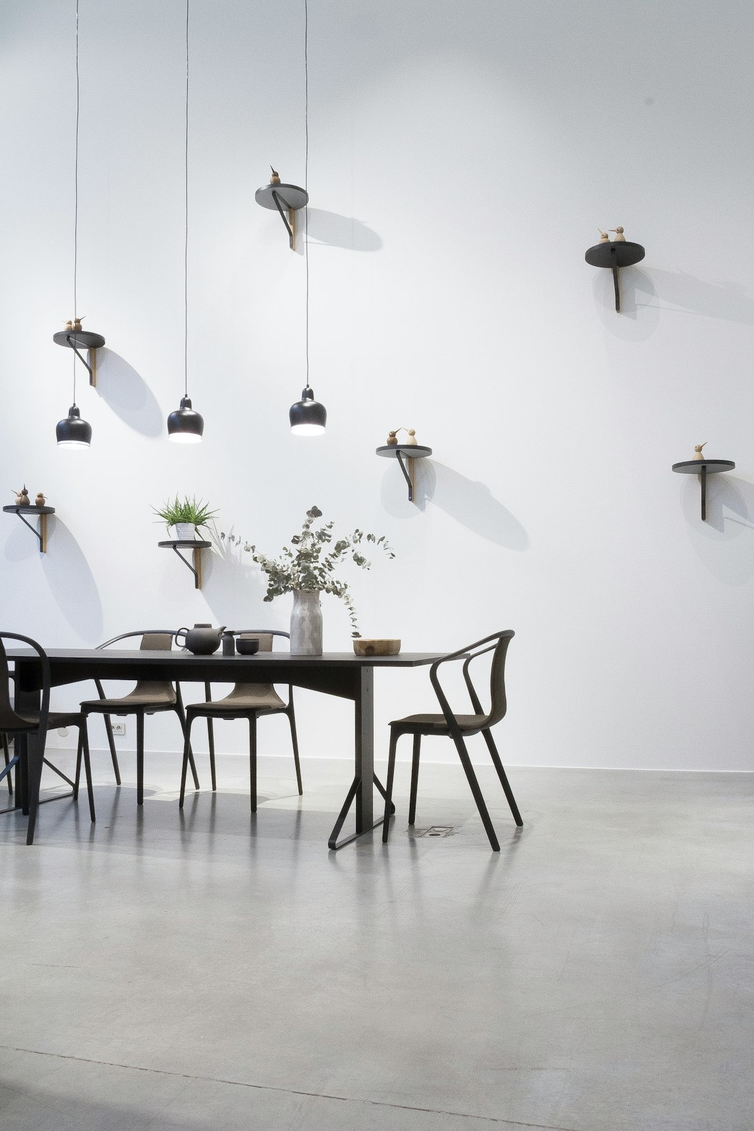
[{"label": "smooth pale grey concrete floor beneath the dining set", "polygon": [[[0,818],[6,1131],[751,1131],[754,776],[427,765],[388,848],[327,835],[347,762],[244,759],[181,817],[95,760]],[[61,765],[63,760],[61,759]],[[207,778],[200,762],[200,774]],[[280,777],[284,775],[284,777]]]}]

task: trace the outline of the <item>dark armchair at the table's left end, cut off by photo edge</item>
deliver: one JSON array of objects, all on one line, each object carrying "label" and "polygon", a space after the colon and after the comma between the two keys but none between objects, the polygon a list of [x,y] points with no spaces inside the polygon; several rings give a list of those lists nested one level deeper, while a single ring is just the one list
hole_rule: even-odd
[{"label": "dark armchair at the table's left end, cut off by photo edge", "polygon": [[[40,705],[40,710],[25,710],[24,714],[19,714],[15,710],[10,702],[10,694],[8,692],[8,682],[10,679],[10,671],[8,665],[8,656],[6,654],[3,640],[19,640],[21,644],[28,645],[40,657],[42,666],[42,701]],[[36,814],[40,808],[40,782],[42,778],[42,767],[49,766],[51,770],[61,777],[72,787],[72,793],[59,794],[55,797],[49,797],[49,801],[58,801],[61,796],[73,797],[78,801],[78,780],[79,772],[77,769],[76,782],[71,782],[57,766],[53,766],[44,757],[44,745],[47,736],[47,731],[54,731],[62,726],[75,726],[78,728],[78,754],[77,754],[77,766],[80,766],[81,757],[84,757],[84,766],[86,771],[86,785],[89,795],[89,815],[92,821],[96,820],[94,812],[94,792],[92,789],[92,766],[89,763],[89,741],[86,728],[86,715],[81,711],[51,711],[50,710],[50,663],[47,661],[46,653],[44,649],[29,637],[20,636],[17,632],[0,632],[0,731],[3,735],[3,751],[6,754],[6,765],[0,769],[0,780],[3,777],[10,777],[10,770],[14,766],[18,767],[16,774],[19,770],[21,774],[21,779],[25,784],[26,800],[24,803],[24,813],[28,813],[28,826],[26,830],[26,844],[31,845],[34,843],[34,829],[36,826]],[[14,756],[8,757],[8,736],[11,735],[14,739]],[[35,751],[35,757],[28,757],[28,740],[35,740],[37,749]],[[19,741],[25,740],[25,741]],[[16,778],[18,784],[18,776]],[[1,812],[9,813],[12,809],[3,809]]]}]

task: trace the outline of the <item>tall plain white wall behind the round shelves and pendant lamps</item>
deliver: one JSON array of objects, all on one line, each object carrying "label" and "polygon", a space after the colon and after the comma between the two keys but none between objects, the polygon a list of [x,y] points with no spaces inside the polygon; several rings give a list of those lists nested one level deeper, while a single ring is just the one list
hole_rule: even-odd
[{"label": "tall plain white wall behind the round shelves and pendant lamps", "polygon": [[[49,646],[211,620],[285,627],[249,555],[196,593],[150,504],[197,492],[276,551],[317,503],[387,534],[354,577],[365,634],[452,649],[512,627],[510,763],[751,768],[754,668],[754,10],[723,0],[310,0],[311,374],[321,440],[292,438],[304,261],[254,204],[304,176],[301,12],[192,0],[189,381],[182,391],[183,3],[80,0],[79,313],[92,450],[59,451],[72,313],[73,0],[0,8],[2,491],[57,508],[41,558],[0,529],[2,624]],[[647,258],[587,266],[597,225]],[[411,506],[387,431],[434,449]],[[670,465],[709,441],[736,470]],[[326,648],[349,648],[324,598]],[[80,689],[61,694],[75,701]],[[88,694],[89,691],[85,691]],[[350,715],[300,697],[304,754]],[[425,672],[379,676],[385,722]],[[266,749],[287,751],[267,724]],[[95,741],[102,741],[95,736]],[[153,745],[177,749],[174,719]],[[244,746],[243,727],[220,731]],[[125,742],[127,746],[132,741]],[[437,743],[434,754],[451,758]]]}]

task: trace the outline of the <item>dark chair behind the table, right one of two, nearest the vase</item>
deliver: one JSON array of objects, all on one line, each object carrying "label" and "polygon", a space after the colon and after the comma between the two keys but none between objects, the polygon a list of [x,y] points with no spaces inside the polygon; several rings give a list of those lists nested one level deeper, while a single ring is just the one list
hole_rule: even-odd
[{"label": "dark chair behind the table, right one of two, nearest the vase", "polygon": [[[288,632],[277,629],[243,629],[234,636],[253,636],[259,639],[260,651],[272,650],[272,637],[279,636],[289,639]],[[203,703],[189,703],[187,714],[185,740],[183,749],[183,770],[181,772],[181,798],[179,806],[183,809],[183,797],[185,793],[185,774],[190,753],[191,726],[196,718],[207,719],[209,733],[209,767],[213,776],[213,789],[215,782],[215,739],[213,722],[216,718],[234,719],[245,718],[249,720],[249,774],[251,784],[251,811],[257,812],[257,719],[261,715],[286,715],[291,726],[291,742],[293,745],[293,758],[296,765],[296,783],[298,795],[303,794],[301,784],[301,765],[298,762],[298,740],[296,737],[296,716],[293,709],[293,684],[288,684],[288,701],[284,702],[271,683],[236,683],[229,694],[224,699],[213,701],[210,698],[209,684],[205,684],[207,701]],[[194,779],[196,780],[196,779]],[[197,786],[197,788],[199,788]]]}]

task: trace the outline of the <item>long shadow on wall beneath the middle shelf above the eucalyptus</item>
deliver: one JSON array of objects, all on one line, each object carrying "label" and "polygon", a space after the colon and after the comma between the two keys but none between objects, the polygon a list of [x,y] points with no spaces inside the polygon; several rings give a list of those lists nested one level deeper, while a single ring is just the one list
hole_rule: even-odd
[{"label": "long shadow on wall beneath the middle shelf above the eucalyptus", "polygon": [[519,520],[484,483],[467,480],[460,472],[434,459],[421,459],[415,465],[414,502],[409,503],[406,482],[396,465],[397,461],[390,460],[382,477],[381,500],[389,515],[406,518],[425,510],[427,502],[432,502],[461,526],[497,546],[526,550],[529,545],[529,535]]}]

